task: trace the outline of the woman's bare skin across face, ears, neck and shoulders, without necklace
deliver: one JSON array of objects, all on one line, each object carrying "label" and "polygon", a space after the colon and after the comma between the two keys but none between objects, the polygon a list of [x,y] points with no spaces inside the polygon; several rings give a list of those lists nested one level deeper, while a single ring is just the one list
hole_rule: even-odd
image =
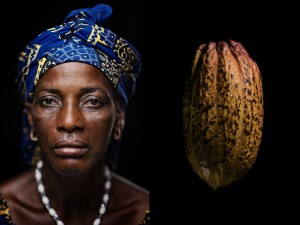
[{"label": "woman's bare skin across face, ears, neck and shoulders, without necklace", "polygon": [[[49,69],[37,84],[28,119],[38,137],[50,204],[68,225],[92,225],[104,189],[103,167],[111,139],[120,140],[125,113],[106,76],[91,65],[69,62]],[[149,193],[112,173],[102,225],[138,225]],[[34,170],[0,186],[16,225],[55,225],[41,202]]]}]

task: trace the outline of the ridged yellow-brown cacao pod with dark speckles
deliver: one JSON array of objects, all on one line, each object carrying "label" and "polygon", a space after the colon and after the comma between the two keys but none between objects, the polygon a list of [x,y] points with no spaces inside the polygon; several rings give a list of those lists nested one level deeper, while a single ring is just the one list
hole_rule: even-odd
[{"label": "ridged yellow-brown cacao pod with dark speckles", "polygon": [[183,94],[185,151],[214,191],[252,168],[263,132],[261,73],[236,41],[201,44]]}]

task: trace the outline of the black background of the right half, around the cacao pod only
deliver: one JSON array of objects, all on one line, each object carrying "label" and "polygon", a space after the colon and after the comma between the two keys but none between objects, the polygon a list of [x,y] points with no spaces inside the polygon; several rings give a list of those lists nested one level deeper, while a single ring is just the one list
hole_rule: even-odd
[{"label": "black background of the right half, around the cacao pod only", "polygon": [[[298,207],[294,207],[299,201],[297,13],[292,4],[285,3],[210,2],[168,5],[159,9],[160,22],[150,23],[164,29],[151,36],[155,43],[160,40],[156,46],[160,53],[158,60],[149,60],[150,71],[155,71],[150,83],[160,90],[154,96],[163,104],[160,110],[156,108],[155,116],[157,124],[162,124],[156,137],[162,143],[163,158],[151,154],[153,161],[160,161],[155,167],[161,170],[151,173],[150,179],[152,207],[157,212],[154,220],[158,221],[154,224],[291,224],[299,220]],[[184,151],[183,81],[200,44],[228,39],[242,43],[260,68],[265,102],[263,138],[249,173],[213,192],[193,172]],[[155,182],[155,176],[161,177],[162,183]]]}]

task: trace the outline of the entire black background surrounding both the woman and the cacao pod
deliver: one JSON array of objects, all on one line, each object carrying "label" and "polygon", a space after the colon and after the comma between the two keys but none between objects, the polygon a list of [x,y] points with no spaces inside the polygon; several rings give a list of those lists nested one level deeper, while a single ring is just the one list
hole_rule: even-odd
[{"label": "entire black background surrounding both the woman and the cacao pod", "polygon": [[[102,1],[111,27],[143,56],[143,72],[129,105],[120,173],[150,190],[151,224],[247,224],[299,220],[299,44],[297,7],[184,1]],[[99,1],[11,3],[1,38],[1,180],[23,169],[18,153],[19,104],[13,79],[20,50],[70,10]],[[6,27],[7,26],[7,27]],[[258,64],[264,90],[263,138],[256,163],[243,178],[213,192],[192,170],[182,134],[182,93],[198,46],[233,39]],[[294,206],[296,204],[296,207]],[[206,221],[206,222],[202,222]]]}]

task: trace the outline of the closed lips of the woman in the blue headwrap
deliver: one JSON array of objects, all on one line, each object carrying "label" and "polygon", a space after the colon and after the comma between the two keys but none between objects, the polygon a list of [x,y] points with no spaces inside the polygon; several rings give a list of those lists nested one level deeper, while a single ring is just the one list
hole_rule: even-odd
[{"label": "closed lips of the woman in the blue headwrap", "polygon": [[59,141],[53,148],[54,152],[63,158],[78,158],[83,156],[89,149],[89,146],[82,141]]}]

